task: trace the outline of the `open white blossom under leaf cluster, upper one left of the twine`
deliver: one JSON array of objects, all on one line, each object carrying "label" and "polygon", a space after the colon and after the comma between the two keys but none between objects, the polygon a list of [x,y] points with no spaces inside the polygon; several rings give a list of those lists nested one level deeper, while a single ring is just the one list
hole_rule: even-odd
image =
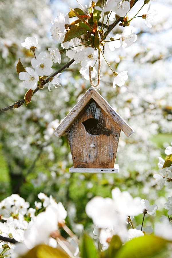
[{"label": "open white blossom under leaf cluster, upper one left of the twine", "polygon": [[91,47],[85,48],[82,51],[77,52],[74,56],[75,62],[81,62],[82,67],[93,66],[96,62],[96,58],[96,51],[94,50],[94,48]]}]

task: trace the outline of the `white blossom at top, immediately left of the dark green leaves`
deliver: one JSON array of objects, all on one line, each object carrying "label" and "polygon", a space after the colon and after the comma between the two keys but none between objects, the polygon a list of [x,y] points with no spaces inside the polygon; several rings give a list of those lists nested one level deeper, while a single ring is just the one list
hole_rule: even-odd
[{"label": "white blossom at top, immediately left of the dark green leaves", "polygon": [[60,13],[52,22],[51,33],[52,39],[56,39],[58,43],[62,43],[64,41],[64,36],[66,34],[66,26],[69,23],[69,15],[68,13],[64,16],[64,14]]}]

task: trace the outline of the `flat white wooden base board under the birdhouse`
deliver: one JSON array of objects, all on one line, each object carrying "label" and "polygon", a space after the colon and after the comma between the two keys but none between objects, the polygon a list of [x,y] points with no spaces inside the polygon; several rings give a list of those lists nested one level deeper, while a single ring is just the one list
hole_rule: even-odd
[{"label": "flat white wooden base board under the birdhouse", "polygon": [[119,173],[119,165],[114,165],[114,168],[75,168],[69,169],[70,173]]}]

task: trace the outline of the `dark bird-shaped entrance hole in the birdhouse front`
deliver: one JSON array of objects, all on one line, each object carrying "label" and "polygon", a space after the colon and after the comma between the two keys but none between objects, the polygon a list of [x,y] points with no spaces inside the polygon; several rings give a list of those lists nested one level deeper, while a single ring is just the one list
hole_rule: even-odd
[{"label": "dark bird-shaped entrance hole in the birdhouse front", "polygon": [[96,118],[89,118],[84,122],[82,122],[82,124],[84,125],[86,131],[89,134],[92,134],[92,135],[104,134],[106,136],[110,136],[111,134],[111,130],[103,127],[103,124]]}]

